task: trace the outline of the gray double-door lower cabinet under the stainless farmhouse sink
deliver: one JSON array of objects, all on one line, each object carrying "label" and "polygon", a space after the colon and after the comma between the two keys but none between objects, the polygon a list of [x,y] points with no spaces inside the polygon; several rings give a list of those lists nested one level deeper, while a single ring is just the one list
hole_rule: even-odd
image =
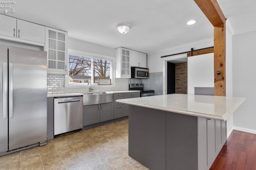
[{"label": "gray double-door lower cabinet under the stainless farmhouse sink", "polygon": [[114,119],[113,102],[83,107],[83,126]]}]

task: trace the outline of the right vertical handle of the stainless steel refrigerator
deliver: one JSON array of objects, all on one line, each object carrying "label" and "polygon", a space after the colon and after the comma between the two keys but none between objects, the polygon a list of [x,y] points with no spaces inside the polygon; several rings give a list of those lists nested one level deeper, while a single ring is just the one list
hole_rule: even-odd
[{"label": "right vertical handle of the stainless steel refrigerator", "polygon": [[13,96],[12,96],[12,85],[13,85],[13,63],[9,63],[9,118],[13,117]]}]

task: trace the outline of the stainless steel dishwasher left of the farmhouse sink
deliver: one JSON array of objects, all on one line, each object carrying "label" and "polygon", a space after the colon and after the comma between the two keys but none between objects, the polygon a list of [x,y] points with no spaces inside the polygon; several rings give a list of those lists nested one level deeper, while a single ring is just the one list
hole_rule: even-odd
[{"label": "stainless steel dishwasher left of the farmhouse sink", "polygon": [[82,127],[83,96],[54,98],[54,135]]}]

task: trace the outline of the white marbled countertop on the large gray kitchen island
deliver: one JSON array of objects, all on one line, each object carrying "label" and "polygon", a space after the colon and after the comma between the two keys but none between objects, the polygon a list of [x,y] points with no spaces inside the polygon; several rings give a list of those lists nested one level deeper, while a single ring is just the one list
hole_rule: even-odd
[{"label": "white marbled countertop on the large gray kitchen island", "polygon": [[242,97],[168,94],[119,99],[116,102],[226,121],[244,100]]}]

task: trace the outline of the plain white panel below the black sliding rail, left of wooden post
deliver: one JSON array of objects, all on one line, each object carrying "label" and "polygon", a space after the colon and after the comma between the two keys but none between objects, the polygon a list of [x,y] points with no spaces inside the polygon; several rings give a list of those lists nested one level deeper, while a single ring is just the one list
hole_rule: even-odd
[{"label": "plain white panel below the black sliding rail, left of wooden post", "polygon": [[214,53],[188,57],[188,94],[195,87],[214,87]]}]

